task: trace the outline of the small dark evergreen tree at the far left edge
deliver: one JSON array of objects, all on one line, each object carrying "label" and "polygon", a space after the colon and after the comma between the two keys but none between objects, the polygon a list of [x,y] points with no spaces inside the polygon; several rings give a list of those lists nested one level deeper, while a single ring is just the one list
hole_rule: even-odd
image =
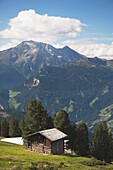
[{"label": "small dark evergreen tree at the far left edge", "polygon": [[5,118],[3,118],[1,121],[1,136],[4,136],[4,137],[9,136],[9,124]]}]

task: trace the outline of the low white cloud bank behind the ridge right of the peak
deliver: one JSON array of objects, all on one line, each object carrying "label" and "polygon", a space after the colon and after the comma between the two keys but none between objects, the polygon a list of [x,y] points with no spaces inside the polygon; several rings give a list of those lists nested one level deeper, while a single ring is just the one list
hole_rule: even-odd
[{"label": "low white cloud bank behind the ridge right of the peak", "polygon": [[71,48],[87,57],[97,56],[108,60],[113,59],[113,42],[111,44],[99,44],[94,41],[67,40],[62,44],[68,44]]}]

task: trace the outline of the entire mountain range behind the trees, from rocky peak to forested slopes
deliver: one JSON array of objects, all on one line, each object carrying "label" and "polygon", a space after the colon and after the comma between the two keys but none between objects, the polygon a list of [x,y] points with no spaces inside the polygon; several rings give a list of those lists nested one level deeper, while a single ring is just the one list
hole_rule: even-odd
[{"label": "entire mountain range behind the trees, from rocky peak to forested slopes", "polygon": [[51,115],[65,109],[73,122],[113,128],[113,60],[24,41],[0,52],[0,80],[1,110],[19,113],[38,99]]}]

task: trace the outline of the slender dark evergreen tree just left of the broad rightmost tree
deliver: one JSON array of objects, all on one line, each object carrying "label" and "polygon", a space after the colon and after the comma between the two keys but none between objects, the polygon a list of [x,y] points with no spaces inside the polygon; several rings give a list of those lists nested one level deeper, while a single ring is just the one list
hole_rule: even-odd
[{"label": "slender dark evergreen tree just left of the broad rightmost tree", "polygon": [[89,151],[88,127],[81,122],[77,125],[77,151],[81,156],[87,156]]}]

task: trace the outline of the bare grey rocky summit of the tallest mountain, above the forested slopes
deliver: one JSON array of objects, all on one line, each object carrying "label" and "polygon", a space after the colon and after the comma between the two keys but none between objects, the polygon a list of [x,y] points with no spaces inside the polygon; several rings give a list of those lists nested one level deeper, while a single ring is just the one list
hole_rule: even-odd
[{"label": "bare grey rocky summit of the tallest mountain, above the forested slopes", "polygon": [[0,62],[13,67],[26,78],[34,75],[44,65],[60,66],[83,58],[86,57],[68,46],[56,49],[49,44],[34,41],[24,41],[0,52]]}]

